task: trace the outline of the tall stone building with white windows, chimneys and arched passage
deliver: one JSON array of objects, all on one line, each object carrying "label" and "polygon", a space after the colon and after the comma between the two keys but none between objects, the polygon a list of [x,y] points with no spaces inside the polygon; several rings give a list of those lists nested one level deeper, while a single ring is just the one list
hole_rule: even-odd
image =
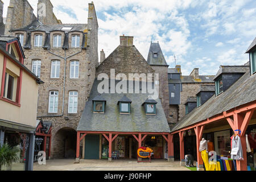
[{"label": "tall stone building with white windows, chimneys and arched passage", "polygon": [[38,16],[33,11],[26,0],[10,0],[1,34],[19,37],[24,65],[45,82],[37,115],[52,122],[51,158],[75,158],[76,129],[98,66],[96,11],[89,3],[87,24],[61,23],[49,0],[38,1]]}]

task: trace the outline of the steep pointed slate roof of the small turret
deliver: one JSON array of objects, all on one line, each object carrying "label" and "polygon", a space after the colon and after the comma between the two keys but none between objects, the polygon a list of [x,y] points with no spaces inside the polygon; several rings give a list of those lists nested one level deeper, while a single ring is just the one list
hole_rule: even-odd
[{"label": "steep pointed slate roof of the small turret", "polygon": [[[158,56],[154,57],[154,53],[157,53]],[[164,59],[162,49],[160,48],[159,43],[152,43],[150,44],[150,50],[147,56],[147,63],[149,65],[166,65],[166,59]]]}]

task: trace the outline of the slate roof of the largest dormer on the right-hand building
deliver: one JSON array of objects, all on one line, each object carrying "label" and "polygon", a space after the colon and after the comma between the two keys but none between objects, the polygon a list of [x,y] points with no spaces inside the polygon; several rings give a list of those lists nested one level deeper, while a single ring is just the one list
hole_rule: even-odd
[{"label": "slate roof of the largest dormer on the right-hand building", "polygon": [[214,76],[213,80],[215,80],[222,73],[246,73],[250,69],[249,65],[220,65],[220,69],[218,70],[216,76]]}]

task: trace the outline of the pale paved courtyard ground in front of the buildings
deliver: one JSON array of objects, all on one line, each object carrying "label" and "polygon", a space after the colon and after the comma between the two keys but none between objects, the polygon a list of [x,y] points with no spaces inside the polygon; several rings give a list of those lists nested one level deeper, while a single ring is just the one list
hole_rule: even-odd
[{"label": "pale paved courtyard ground in front of the buildings", "polygon": [[46,165],[34,163],[34,171],[190,171],[181,167],[180,162],[152,160],[151,163],[137,163],[137,160],[80,160],[74,164],[73,159],[47,160]]}]

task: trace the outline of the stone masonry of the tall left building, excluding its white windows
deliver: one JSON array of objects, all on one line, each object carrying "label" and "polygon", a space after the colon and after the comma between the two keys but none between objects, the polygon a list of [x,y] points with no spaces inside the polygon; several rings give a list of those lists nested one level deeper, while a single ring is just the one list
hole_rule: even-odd
[{"label": "stone masonry of the tall left building, excluding its white windows", "polygon": [[[57,20],[52,12],[53,6],[51,2],[49,0],[39,0],[40,3],[46,5],[46,16],[39,16],[40,23],[47,23],[47,25],[53,23],[52,27],[55,24],[60,24],[61,22]],[[24,65],[32,71],[32,61],[41,61],[40,79],[44,81],[44,84],[39,87],[37,115],[38,119],[52,122],[51,158],[68,158],[72,157],[72,155],[75,157],[77,125],[79,124],[86,100],[89,97],[90,89],[96,76],[96,67],[98,66],[98,23],[95,8],[93,3],[89,3],[88,24],[81,24],[81,27],[84,27],[82,31],[64,32],[58,29],[46,32],[41,30],[24,30],[24,27],[32,23],[33,20],[36,21],[35,15],[32,13],[33,9],[28,5],[27,1],[10,1],[7,12],[7,28],[5,31],[7,35],[23,34],[23,45],[28,41],[27,33],[31,33],[31,48],[24,49],[24,54],[26,55]],[[21,10],[19,7],[21,7]],[[24,12],[27,12],[27,14],[24,14]],[[9,16],[19,16],[19,18],[15,19]],[[63,24],[64,26],[65,24]],[[68,26],[72,26],[72,24],[68,24]],[[82,39],[85,33],[87,33],[86,38],[88,38],[86,40]],[[46,35],[50,35],[49,49],[34,46],[36,34],[42,35],[42,46],[46,42]],[[53,36],[56,34],[61,35],[61,47],[53,47]],[[64,39],[66,34],[69,35],[68,49],[63,49],[62,46],[65,44]],[[80,47],[72,47],[72,35],[80,36]],[[82,47],[84,41],[85,48]],[[65,57],[68,58],[64,59]],[[59,78],[51,78],[52,60],[60,61]],[[74,60],[79,61],[79,78],[70,77],[71,61]],[[57,113],[54,114],[48,113],[49,92],[53,90],[59,92],[58,109]],[[78,92],[77,113],[74,114],[68,113],[70,91]],[[65,142],[63,142],[64,140]]]}]

